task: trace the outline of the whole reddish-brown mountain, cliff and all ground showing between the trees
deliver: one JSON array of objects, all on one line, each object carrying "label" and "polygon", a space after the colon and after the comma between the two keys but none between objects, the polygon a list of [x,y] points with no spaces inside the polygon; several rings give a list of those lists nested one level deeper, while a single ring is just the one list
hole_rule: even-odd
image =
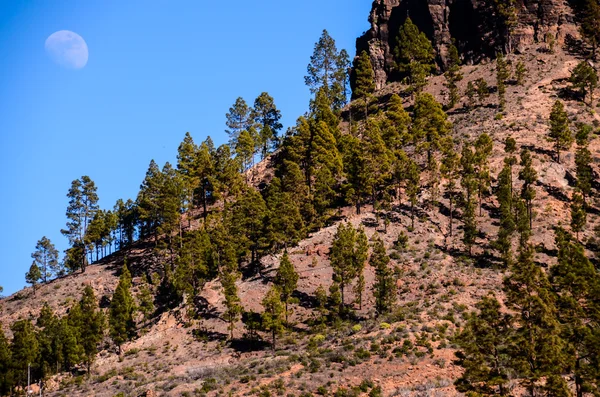
[{"label": "whole reddish-brown mountain, cliff and all ground showing between the trees", "polygon": [[[35,294],[28,288],[4,298],[0,301],[0,321],[5,333],[11,336],[10,324],[19,319],[37,318],[43,302],[59,315],[67,313],[87,285],[94,289],[100,307],[107,311],[125,259],[133,273],[134,296],[148,275],[159,275],[150,285],[156,294],[157,311],[149,319],[138,315],[137,335],[123,344],[122,353],[118,354],[114,343],[106,337],[100,344],[89,377],[81,367],[74,368],[72,373],[49,377],[46,395],[463,395],[459,391],[461,383],[455,386],[455,382],[465,371],[466,364],[457,359],[461,357],[461,353],[458,356],[457,353],[464,352],[465,347],[456,336],[472,324],[474,317],[470,313],[477,313],[482,299],[491,294],[500,301],[502,315],[515,316],[512,325],[506,326],[514,328],[512,337],[517,337],[518,319],[523,318],[518,317],[519,308],[511,303],[515,298],[506,293],[505,280],[511,280],[516,268],[502,264],[502,255],[496,245],[502,221],[502,207],[498,201],[499,175],[511,153],[516,157],[511,171],[514,185],[511,186],[517,196],[522,192],[525,179],[519,176],[524,169],[519,164],[524,156],[523,149],[531,154],[531,166],[537,174],[532,183],[535,198],[531,206],[534,214],[531,229],[520,227],[527,229],[524,234],[530,233],[527,246],[534,250],[535,269],[541,271],[535,273],[542,280],[539,284],[544,284],[546,277],[554,274],[559,254],[562,255],[561,247],[555,241],[556,227],[572,229],[571,209],[580,178],[576,164],[578,147],[572,144],[564,149],[558,161],[554,144],[547,139],[551,111],[557,100],[564,104],[573,130],[585,124],[593,131],[588,145],[593,183],[586,198],[587,223],[577,231],[577,240],[582,245],[573,243],[573,247],[581,247],[594,264],[590,280],[597,280],[600,146],[596,134],[600,117],[596,108],[582,101],[578,89],[569,82],[573,70],[589,56],[579,33],[579,17],[564,1],[517,1],[516,20],[507,35],[503,30],[506,21],[498,15],[497,4],[484,0],[376,0],[369,16],[371,29],[357,40],[357,53],[367,51],[373,65],[377,89],[371,98],[373,110],[367,110],[372,119],[388,117],[392,102],[396,100],[394,95],[398,95],[406,111],[416,117],[415,98],[418,95],[400,81],[392,50],[396,32],[407,16],[426,34],[435,50],[438,70],[427,78],[424,93],[430,94],[438,103],[448,103],[447,78],[443,71],[451,62],[448,54],[452,39],[455,39],[462,60],[459,71],[463,78],[457,81],[458,91],[464,93],[472,84],[487,83],[487,95],[482,93],[471,101],[461,94],[456,106],[445,109],[451,123],[449,135],[457,142],[451,150],[456,152],[457,159],[468,156],[468,149],[476,147],[482,133],[491,138],[489,156],[481,165],[482,170],[489,171],[490,191],[482,193],[480,201],[479,198],[473,200],[476,234],[472,249],[465,245],[464,239],[467,226],[464,202],[467,199],[463,186],[468,182],[464,172],[456,181],[453,195],[448,180],[439,171],[427,168],[425,152],[419,152],[417,145],[409,143],[406,153],[422,167],[415,205],[411,206],[407,185],[397,188],[390,183],[383,189],[385,193],[396,194],[397,190],[401,193],[390,200],[389,206],[381,204],[385,202],[383,199],[371,201],[371,198],[365,198],[359,213],[348,202],[350,200],[333,205],[331,216],[312,228],[299,242],[288,244],[285,249],[282,246],[265,251],[257,265],[251,266],[251,261],[243,262],[240,265],[242,277],[235,286],[240,305],[248,317],[245,321],[235,321],[233,338],[229,337],[223,268],[218,269],[218,275],[207,279],[196,295],[186,292],[181,300],[169,305],[165,295],[161,295],[164,294],[161,291],[165,279],[168,279],[162,269],[171,264],[174,249],[161,249],[152,235],[88,266],[84,273],[76,272],[40,285]],[[511,69],[509,77],[502,82],[506,84],[504,109],[499,106],[498,63],[495,59],[502,51],[508,52],[506,60]],[[526,70],[522,84],[514,78],[517,65]],[[341,111],[340,132],[335,139],[343,141],[343,136],[367,134],[368,121],[357,119],[363,109],[364,104],[357,99]],[[513,138],[516,143],[514,150],[508,153],[505,149],[507,138]],[[366,141],[361,142],[366,144]],[[389,142],[386,144],[390,145]],[[250,168],[245,176],[248,185],[270,197],[269,189],[277,183],[273,181],[282,173],[281,164],[285,164],[281,159],[289,156],[291,150],[293,147],[284,144]],[[364,167],[368,166],[373,165],[365,162]],[[407,169],[401,169],[402,177]],[[285,178],[283,180],[285,182]],[[289,197],[289,201],[301,200],[299,194]],[[216,202],[213,205],[211,211],[220,216],[226,204]],[[182,229],[176,230],[173,236],[212,227],[211,222],[216,218],[205,220],[200,207],[184,215],[185,219],[180,223]],[[520,216],[524,216],[523,213]],[[366,264],[360,304],[356,289],[348,286],[345,301],[351,307],[351,314],[336,317],[335,286],[340,281],[338,277],[336,283],[333,282],[332,245],[338,228],[346,223],[356,230],[362,227],[371,245],[379,236],[391,258],[389,269],[394,274],[397,294],[394,308],[388,313],[378,315],[375,311],[373,288],[377,274],[373,266]],[[520,264],[517,255],[521,251],[517,248],[516,234],[512,251],[515,261]],[[162,240],[169,239],[163,235]],[[574,253],[579,252],[573,249]],[[256,329],[260,327],[248,318],[264,311],[263,298],[276,281],[284,251],[299,279],[290,301],[292,311],[288,330],[278,337],[277,348],[272,351],[271,331]],[[550,279],[548,283],[551,282],[554,288],[551,292],[546,289],[536,291],[549,293],[557,302],[566,304],[567,301],[561,300],[562,290],[556,287],[556,277]],[[580,280],[577,282],[581,283]],[[327,291],[330,304],[321,304],[319,287]],[[539,298],[543,295],[541,292],[532,295]],[[588,302],[587,295],[580,299]],[[590,308],[598,307],[594,306],[598,305],[597,297],[590,299],[589,305]],[[560,320],[551,322],[557,329],[565,326],[564,317],[561,317],[561,311],[567,310],[565,307],[558,305],[555,312],[550,311]],[[582,310],[587,311],[587,307]],[[590,335],[598,335],[598,319],[593,314],[590,318],[586,323]],[[503,326],[500,324],[496,328],[499,330]],[[546,327],[546,331],[549,328]],[[552,334],[558,338],[557,335]],[[563,337],[564,343],[570,343],[568,337]],[[543,346],[543,341],[539,344]],[[597,353],[590,349],[589,357],[597,359]],[[506,356],[498,358],[505,359]],[[584,360],[584,364],[593,367],[594,359],[586,358],[589,361]],[[481,368],[484,367],[482,363]],[[574,366],[571,364],[564,364],[562,368],[552,370],[554,372],[546,371],[538,372],[543,375],[533,385],[526,383],[526,376],[516,373],[503,381],[511,395],[529,395],[532,389],[536,393],[545,390],[548,395],[558,395],[552,394],[555,391],[547,391],[551,386],[549,379],[570,388],[571,391],[564,395],[575,389]],[[598,386],[598,378],[593,378],[600,376],[597,372],[590,370],[585,376],[589,376],[586,378],[589,385]],[[587,391],[581,393],[582,396],[591,395]]]}]

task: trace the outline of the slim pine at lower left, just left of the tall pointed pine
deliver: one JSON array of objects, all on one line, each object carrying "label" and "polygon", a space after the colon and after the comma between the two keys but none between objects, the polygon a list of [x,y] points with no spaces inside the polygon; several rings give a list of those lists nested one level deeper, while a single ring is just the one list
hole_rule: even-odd
[{"label": "slim pine at lower left, just left of the tall pointed pine", "polygon": [[89,285],[83,290],[79,306],[81,308],[82,330],[80,344],[83,348],[84,362],[89,376],[92,363],[98,352],[98,344],[104,336],[104,315],[98,308],[94,290]]}]

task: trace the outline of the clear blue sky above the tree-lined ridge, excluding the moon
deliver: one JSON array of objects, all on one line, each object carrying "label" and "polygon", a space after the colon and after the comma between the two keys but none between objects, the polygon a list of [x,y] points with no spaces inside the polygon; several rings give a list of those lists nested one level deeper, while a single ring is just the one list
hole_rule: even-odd
[{"label": "clear blue sky above the tree-lined ridge, excluding the moon", "polygon": [[[238,96],[269,92],[284,128],[307,108],[306,65],[321,31],[354,55],[370,0],[62,0],[0,5],[0,285],[25,285],[36,241],[61,252],[66,193],[89,175],[100,205],[135,199],[151,159],[175,162],[189,131],[226,141]],[[44,50],[81,35],[87,66]]]}]

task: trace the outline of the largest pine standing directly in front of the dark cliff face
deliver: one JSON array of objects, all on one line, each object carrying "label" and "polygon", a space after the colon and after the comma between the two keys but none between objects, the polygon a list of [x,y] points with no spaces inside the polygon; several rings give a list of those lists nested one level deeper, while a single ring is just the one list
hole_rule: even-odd
[{"label": "largest pine standing directly in front of the dark cliff face", "polygon": [[435,70],[435,52],[425,33],[409,18],[400,27],[394,47],[396,66],[406,77],[414,92],[420,92],[426,84],[426,77]]}]

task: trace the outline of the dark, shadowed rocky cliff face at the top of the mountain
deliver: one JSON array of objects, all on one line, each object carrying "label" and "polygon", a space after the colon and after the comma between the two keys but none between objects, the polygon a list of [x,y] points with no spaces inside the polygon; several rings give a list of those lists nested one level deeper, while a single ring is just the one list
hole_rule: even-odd
[{"label": "dark, shadowed rocky cliff face at the top of the mountain", "polygon": [[576,35],[567,0],[517,0],[518,23],[507,43],[494,1],[375,0],[369,16],[371,29],[357,39],[357,53],[366,50],[370,54],[377,88],[381,88],[395,80],[391,49],[407,16],[432,41],[441,67],[452,39],[465,61],[478,61],[493,57],[502,47],[519,51],[543,42],[548,33],[558,43],[567,34]]}]

